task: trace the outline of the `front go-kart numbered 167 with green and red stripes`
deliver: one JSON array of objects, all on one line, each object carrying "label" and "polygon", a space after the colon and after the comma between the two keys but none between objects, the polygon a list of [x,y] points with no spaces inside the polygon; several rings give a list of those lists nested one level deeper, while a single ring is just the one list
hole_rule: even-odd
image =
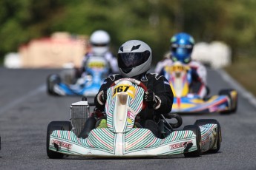
[{"label": "front go-kart numbered 167 with green and red stripes", "polygon": [[221,129],[217,120],[197,120],[183,130],[174,130],[182,124],[180,115],[168,115],[177,123],[168,123],[160,115],[157,123],[160,137],[149,129],[134,126],[137,115],[145,108],[145,85],[132,78],[120,79],[112,85],[107,91],[103,114],[107,127],[95,127],[96,115],[99,114],[89,113],[88,101],[72,103],[70,121],[52,121],[47,126],[48,157],[155,157],[171,154],[195,157],[202,152],[220,149]]}]

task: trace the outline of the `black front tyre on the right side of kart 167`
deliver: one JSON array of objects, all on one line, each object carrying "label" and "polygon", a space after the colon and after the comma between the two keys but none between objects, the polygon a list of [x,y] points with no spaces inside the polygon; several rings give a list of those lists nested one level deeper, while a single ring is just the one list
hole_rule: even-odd
[{"label": "black front tyre on the right side of kart 167", "polygon": [[197,150],[193,152],[186,152],[184,153],[185,157],[199,157],[201,154],[201,131],[199,126],[196,125],[187,125],[184,127],[183,130],[191,130],[197,135]]}]

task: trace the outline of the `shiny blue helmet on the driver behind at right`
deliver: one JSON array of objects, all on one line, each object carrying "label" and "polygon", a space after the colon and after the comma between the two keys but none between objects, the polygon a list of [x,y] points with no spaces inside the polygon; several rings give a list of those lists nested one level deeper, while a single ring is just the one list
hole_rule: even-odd
[{"label": "shiny blue helmet on the driver behind at right", "polygon": [[171,60],[188,64],[194,47],[194,38],[187,33],[177,33],[171,37]]}]

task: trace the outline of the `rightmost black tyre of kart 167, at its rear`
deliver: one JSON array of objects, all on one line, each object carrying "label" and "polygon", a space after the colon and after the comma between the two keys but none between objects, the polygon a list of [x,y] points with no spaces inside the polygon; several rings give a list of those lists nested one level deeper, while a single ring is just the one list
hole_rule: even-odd
[{"label": "rightmost black tyre of kart 167, at its rear", "polygon": [[222,140],[220,123],[215,119],[200,119],[200,120],[196,120],[194,125],[203,126],[203,125],[206,125],[208,123],[217,124],[217,140],[216,140],[217,148],[216,149],[210,149],[209,151],[207,151],[208,153],[216,153],[220,150],[220,143],[221,143],[221,140]]}]

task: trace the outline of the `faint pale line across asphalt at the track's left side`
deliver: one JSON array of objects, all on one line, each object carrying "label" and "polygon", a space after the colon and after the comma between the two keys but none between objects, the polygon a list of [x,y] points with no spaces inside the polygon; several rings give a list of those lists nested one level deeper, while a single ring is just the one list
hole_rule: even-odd
[{"label": "faint pale line across asphalt at the track's left side", "polygon": [[0,115],[4,115],[4,113],[7,112],[9,109],[13,108],[13,106],[17,106],[19,103],[26,101],[28,98],[31,98],[31,97],[38,95],[39,93],[45,92],[45,91],[46,91],[45,85],[37,87],[33,91],[27,93],[27,95],[23,95],[21,98],[17,98],[16,100],[8,103],[6,106],[1,107]]}]

